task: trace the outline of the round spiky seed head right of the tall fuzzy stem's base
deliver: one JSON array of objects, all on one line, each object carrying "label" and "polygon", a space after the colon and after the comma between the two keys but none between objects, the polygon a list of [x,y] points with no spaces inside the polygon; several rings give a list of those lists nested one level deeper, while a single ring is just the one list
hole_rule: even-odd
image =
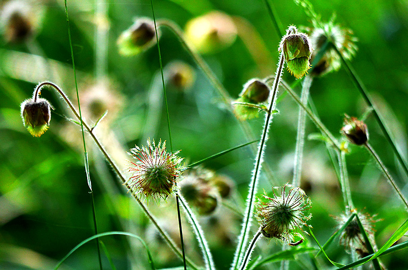
[{"label": "round spiky seed head right of the tall fuzzy stem's base", "polygon": [[266,194],[258,197],[255,207],[262,234],[285,240],[288,244],[291,244],[294,236],[300,236],[297,230],[307,225],[312,217],[310,198],[300,187],[290,184],[274,187],[272,198]]}]

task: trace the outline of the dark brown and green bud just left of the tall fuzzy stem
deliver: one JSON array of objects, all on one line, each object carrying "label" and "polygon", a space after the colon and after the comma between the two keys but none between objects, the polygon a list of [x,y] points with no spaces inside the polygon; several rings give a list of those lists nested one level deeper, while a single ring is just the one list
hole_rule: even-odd
[{"label": "dark brown and green bud just left of the tall fuzzy stem", "polygon": [[239,97],[233,102],[235,103],[234,113],[240,120],[258,117],[260,108],[251,104],[259,105],[267,101],[269,93],[269,87],[262,80],[258,78],[248,80]]}]

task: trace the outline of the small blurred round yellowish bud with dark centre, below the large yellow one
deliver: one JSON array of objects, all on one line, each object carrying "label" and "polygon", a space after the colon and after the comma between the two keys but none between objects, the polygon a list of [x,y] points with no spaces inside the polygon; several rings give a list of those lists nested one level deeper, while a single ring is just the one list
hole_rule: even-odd
[{"label": "small blurred round yellowish bud with dark centre, below the large yellow one", "polygon": [[179,92],[191,89],[195,81],[194,69],[181,61],[174,61],[167,65],[166,73],[169,84]]}]

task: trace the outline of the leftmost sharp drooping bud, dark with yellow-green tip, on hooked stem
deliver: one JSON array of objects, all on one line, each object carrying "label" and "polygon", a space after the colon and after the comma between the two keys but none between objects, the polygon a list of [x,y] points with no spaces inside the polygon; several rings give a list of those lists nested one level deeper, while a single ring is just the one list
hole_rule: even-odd
[{"label": "leftmost sharp drooping bud, dark with yellow-green tip, on hooked stem", "polygon": [[26,99],[21,103],[21,118],[24,126],[34,137],[40,137],[51,120],[51,105],[46,99]]}]

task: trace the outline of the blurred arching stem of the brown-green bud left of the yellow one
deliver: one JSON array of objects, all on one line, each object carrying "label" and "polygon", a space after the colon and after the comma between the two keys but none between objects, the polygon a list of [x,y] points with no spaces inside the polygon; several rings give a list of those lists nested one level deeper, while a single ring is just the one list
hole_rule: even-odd
[{"label": "blurred arching stem of the brown-green bud left of the yellow one", "polygon": [[[189,53],[191,58],[194,60],[194,62],[197,64],[197,66],[208,77],[208,79],[210,80],[210,83],[213,85],[213,87],[216,89],[217,93],[221,97],[221,100],[225,104],[227,110],[234,114],[234,106],[231,104],[231,101],[233,101],[233,99],[230,97],[230,94],[228,94],[228,91],[221,84],[217,76],[214,74],[214,72],[211,70],[211,68],[206,63],[206,61],[199,55],[199,53],[194,49],[194,47],[187,41],[187,39],[185,38],[184,32],[180,28],[180,26],[166,19],[157,20],[157,25],[159,28],[161,26],[168,28],[177,37],[177,39],[179,39],[180,43],[187,50],[187,52]],[[234,116],[237,118],[235,114]],[[240,120],[238,120],[238,122],[245,134],[246,139],[248,141],[253,141],[254,137],[253,137],[253,133],[251,131],[249,124],[245,121],[240,121]],[[256,146],[251,146],[251,150],[253,154],[256,154],[258,151]],[[269,166],[265,165],[263,169],[265,171],[266,178],[271,182],[271,185],[272,186],[276,185],[277,181],[275,180],[275,177],[272,173],[272,170],[269,168]]]}]

